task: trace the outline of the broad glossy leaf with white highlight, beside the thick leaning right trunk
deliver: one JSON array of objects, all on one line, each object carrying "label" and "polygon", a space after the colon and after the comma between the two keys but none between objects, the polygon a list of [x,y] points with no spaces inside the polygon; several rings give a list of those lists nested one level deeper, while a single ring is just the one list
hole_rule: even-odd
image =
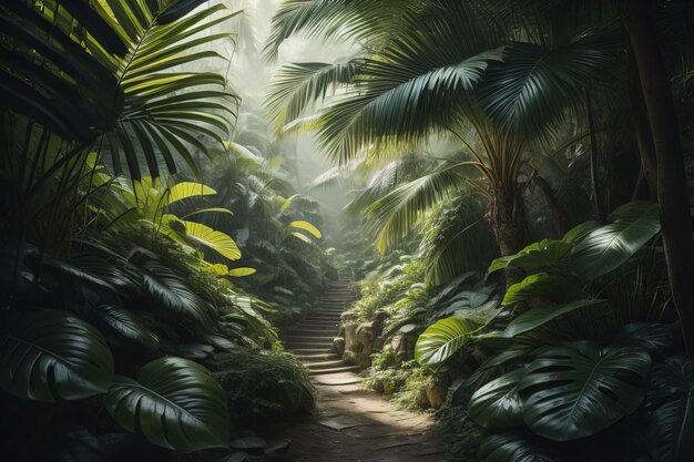
[{"label": "broad glossy leaf with white highlight, beside the thick leaning right trunk", "polygon": [[612,213],[613,222],[576,242],[573,271],[593,280],[620,267],[660,230],[657,204],[632,202]]}]

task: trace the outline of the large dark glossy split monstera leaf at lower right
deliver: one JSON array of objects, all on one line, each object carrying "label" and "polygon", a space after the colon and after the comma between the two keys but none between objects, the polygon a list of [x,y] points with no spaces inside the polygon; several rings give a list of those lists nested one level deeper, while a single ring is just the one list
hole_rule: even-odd
[{"label": "large dark glossy split monstera leaf at lower right", "polygon": [[525,424],[555,441],[595,434],[639,408],[645,390],[636,382],[650,369],[651,357],[641,348],[601,351],[588,341],[548,348],[519,386]]}]

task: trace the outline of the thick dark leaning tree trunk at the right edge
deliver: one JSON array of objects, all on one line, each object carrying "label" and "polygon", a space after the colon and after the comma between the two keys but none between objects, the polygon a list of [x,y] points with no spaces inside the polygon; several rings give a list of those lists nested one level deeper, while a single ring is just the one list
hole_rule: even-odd
[{"label": "thick dark leaning tree trunk at the right edge", "polygon": [[677,117],[653,25],[650,0],[626,0],[623,21],[631,41],[657,161],[657,201],[670,289],[688,353],[694,352],[694,243]]}]

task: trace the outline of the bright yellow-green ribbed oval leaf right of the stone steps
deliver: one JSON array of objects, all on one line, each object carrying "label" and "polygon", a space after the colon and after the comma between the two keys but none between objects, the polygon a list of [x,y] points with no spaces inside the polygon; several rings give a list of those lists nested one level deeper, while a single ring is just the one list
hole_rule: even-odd
[{"label": "bright yellow-green ribbed oval leaf right of the stone steps", "polygon": [[415,359],[420,365],[438,365],[453,356],[479,326],[463,318],[440,319],[417,339]]}]

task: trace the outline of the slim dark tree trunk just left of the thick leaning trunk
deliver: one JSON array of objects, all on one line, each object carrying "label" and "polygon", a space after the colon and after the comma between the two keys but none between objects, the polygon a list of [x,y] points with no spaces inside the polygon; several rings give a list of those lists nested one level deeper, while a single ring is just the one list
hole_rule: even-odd
[{"label": "slim dark tree trunk just left of the thick leaning trunk", "polygon": [[[629,103],[631,106],[634,132],[636,133],[636,144],[641,158],[641,173],[649,188],[649,199],[657,199],[657,162],[655,158],[655,146],[653,145],[653,134],[649,125],[645,102],[641,90],[641,79],[633,57],[629,58]],[[641,181],[641,178],[639,178]],[[640,194],[640,187],[634,188],[634,194]]]}]

